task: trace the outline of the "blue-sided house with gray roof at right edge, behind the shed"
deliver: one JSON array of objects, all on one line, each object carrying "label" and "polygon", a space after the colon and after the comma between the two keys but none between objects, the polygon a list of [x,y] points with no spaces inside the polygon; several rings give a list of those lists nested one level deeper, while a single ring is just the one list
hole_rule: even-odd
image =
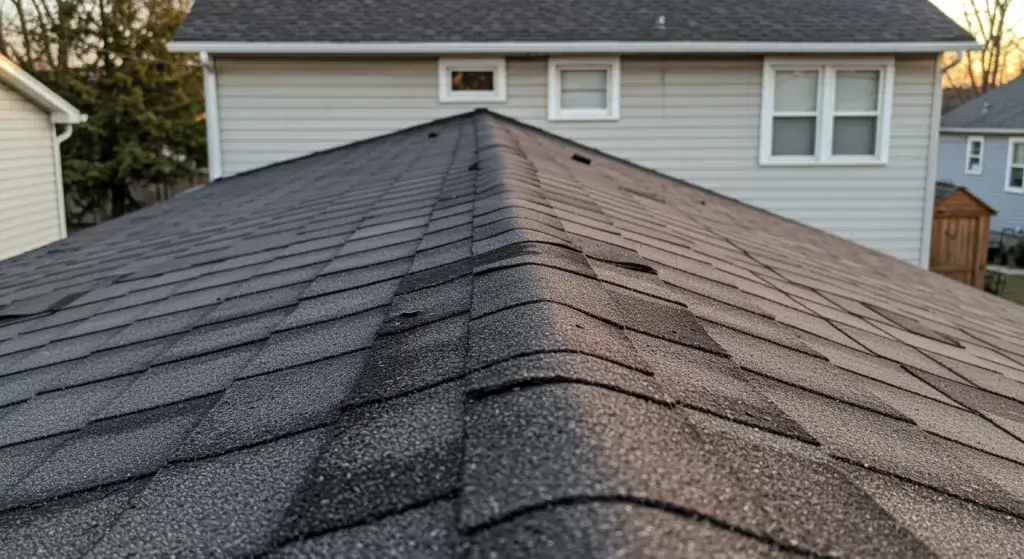
[{"label": "blue-sided house with gray roof at right edge, behind the shed", "polygon": [[938,178],[998,212],[993,229],[1024,229],[1024,75],[942,117]]}]

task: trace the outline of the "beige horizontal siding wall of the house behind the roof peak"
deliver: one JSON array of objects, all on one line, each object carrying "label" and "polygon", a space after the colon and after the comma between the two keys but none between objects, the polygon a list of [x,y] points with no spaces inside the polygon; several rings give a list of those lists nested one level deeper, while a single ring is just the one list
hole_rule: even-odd
[{"label": "beige horizontal siding wall of the house behind the roof peak", "polygon": [[[761,167],[761,57],[624,57],[622,118],[548,122],[547,60],[508,60],[508,100],[485,105],[612,155],[920,262],[934,57],[900,58],[890,163]],[[230,175],[387,133],[472,104],[437,100],[437,62],[217,59]]]}]

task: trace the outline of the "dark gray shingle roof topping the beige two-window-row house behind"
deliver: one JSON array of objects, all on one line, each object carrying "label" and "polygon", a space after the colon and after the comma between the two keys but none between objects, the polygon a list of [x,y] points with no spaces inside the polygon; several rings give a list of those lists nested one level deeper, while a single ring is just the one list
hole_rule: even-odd
[{"label": "dark gray shingle roof topping the beige two-window-row house behind", "polygon": [[[665,31],[654,29],[666,16]],[[177,41],[971,41],[928,0],[198,0]]]}]

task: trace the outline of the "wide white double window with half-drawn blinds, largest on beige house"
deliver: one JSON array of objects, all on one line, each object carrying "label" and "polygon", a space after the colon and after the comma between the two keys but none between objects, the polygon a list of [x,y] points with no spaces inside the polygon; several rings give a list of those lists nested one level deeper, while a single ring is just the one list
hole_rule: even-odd
[{"label": "wide white double window with half-drawn blinds, largest on beige house", "polygon": [[882,165],[892,59],[766,58],[762,165]]}]

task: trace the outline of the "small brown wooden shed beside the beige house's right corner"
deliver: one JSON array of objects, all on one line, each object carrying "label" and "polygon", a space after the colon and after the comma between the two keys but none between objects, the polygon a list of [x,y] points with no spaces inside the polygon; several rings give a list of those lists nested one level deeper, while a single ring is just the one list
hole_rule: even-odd
[{"label": "small brown wooden shed beside the beige house's right corner", "polygon": [[976,288],[985,286],[989,220],[995,211],[970,190],[935,184],[931,270]]}]

